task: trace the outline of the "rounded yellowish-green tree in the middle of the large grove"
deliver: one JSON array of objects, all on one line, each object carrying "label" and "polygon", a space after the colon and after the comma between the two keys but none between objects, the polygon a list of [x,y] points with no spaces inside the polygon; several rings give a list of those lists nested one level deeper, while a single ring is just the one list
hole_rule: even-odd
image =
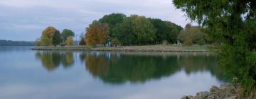
[{"label": "rounded yellowish-green tree in the middle of the large grove", "polygon": [[144,16],[132,15],[125,18],[123,23],[117,24],[113,30],[121,45],[153,44],[156,38],[156,28]]}]

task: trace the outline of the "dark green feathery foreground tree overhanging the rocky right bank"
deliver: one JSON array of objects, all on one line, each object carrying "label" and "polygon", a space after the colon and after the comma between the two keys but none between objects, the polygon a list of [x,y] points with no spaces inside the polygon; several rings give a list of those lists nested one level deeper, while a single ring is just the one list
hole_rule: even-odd
[{"label": "dark green feathery foreground tree overhanging the rocky right bank", "polygon": [[[173,0],[176,8],[207,28],[220,46],[220,66],[233,74],[246,92],[256,86],[256,1]],[[256,96],[255,96],[256,97]]]}]

